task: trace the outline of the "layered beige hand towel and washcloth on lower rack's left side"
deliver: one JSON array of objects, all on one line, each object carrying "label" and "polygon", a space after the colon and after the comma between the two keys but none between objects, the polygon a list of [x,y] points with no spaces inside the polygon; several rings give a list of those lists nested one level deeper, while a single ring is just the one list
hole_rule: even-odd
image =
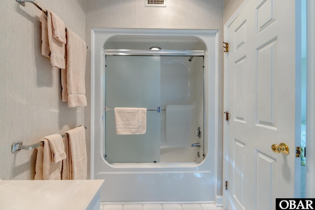
[{"label": "layered beige hand towel and washcloth on lower rack's left side", "polygon": [[[34,179],[61,180],[61,160],[65,158],[61,135],[46,136],[40,141],[44,142],[44,145],[37,148]],[[54,161],[57,162],[54,163]]]}]

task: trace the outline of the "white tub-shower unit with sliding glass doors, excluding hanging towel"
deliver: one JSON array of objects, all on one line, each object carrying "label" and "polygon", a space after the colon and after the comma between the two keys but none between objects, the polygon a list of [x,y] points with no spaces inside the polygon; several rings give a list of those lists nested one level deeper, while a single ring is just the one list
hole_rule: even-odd
[{"label": "white tub-shower unit with sliding glass doors, excluding hanging towel", "polygon": [[[105,180],[101,202],[217,200],[217,42],[217,30],[92,30],[91,179]],[[146,134],[117,135],[115,107],[147,108]]]}]

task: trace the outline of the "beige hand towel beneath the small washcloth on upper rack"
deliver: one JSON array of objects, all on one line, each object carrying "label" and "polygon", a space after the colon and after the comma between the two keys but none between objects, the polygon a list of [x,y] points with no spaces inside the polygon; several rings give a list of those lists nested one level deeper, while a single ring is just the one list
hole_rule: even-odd
[{"label": "beige hand towel beneath the small washcloth on upper rack", "polygon": [[[52,16],[56,16],[52,11],[47,10],[47,29],[48,29],[48,41],[50,48],[50,62],[53,66],[58,68],[65,68],[65,60],[64,60],[64,43],[60,42],[56,38],[54,38],[54,28],[63,27],[60,25],[53,25]],[[61,24],[62,25],[62,24]],[[57,30],[57,29],[55,29]],[[61,30],[61,29],[60,29]]]}]

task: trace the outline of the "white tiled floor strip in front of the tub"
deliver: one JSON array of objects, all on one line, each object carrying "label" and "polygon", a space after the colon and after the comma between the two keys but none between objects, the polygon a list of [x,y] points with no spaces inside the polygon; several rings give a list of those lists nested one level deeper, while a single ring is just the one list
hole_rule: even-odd
[{"label": "white tiled floor strip in front of the tub", "polygon": [[215,204],[126,204],[100,205],[100,210],[223,210]]}]

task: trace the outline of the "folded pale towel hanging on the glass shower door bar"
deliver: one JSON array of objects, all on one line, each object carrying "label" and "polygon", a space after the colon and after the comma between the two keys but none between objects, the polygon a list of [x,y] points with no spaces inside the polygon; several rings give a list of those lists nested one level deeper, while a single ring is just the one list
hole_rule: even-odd
[{"label": "folded pale towel hanging on the glass shower door bar", "polygon": [[114,108],[117,135],[145,134],[147,131],[147,109]]}]

